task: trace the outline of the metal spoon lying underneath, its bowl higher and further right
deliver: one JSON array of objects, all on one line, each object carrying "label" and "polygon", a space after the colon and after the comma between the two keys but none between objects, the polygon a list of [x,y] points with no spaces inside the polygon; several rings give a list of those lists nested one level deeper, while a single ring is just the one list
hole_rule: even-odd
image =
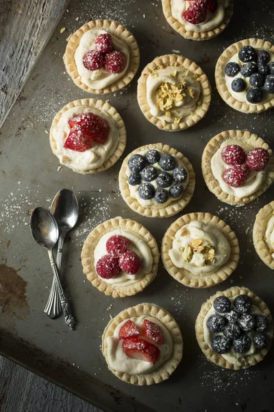
[{"label": "metal spoon lying underneath, its bowl higher and further right", "polygon": [[[69,189],[60,190],[51,203],[51,214],[53,214],[59,227],[60,235],[56,255],[56,266],[58,268],[58,272],[61,273],[64,238],[66,233],[73,229],[76,225],[79,214],[79,205],[75,194]],[[47,301],[47,306],[45,307],[45,313],[51,319],[60,316],[62,313],[58,288],[54,277],[51,285],[49,300]]]}]

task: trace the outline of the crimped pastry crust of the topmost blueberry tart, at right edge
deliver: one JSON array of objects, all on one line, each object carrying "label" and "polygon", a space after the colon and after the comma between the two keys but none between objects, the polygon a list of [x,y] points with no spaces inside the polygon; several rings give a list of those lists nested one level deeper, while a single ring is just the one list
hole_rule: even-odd
[{"label": "crimped pastry crust of the topmost blueberry tart, at right edge", "polygon": [[227,84],[225,82],[225,66],[229,62],[230,58],[232,58],[234,54],[238,53],[243,46],[252,46],[254,48],[264,49],[268,52],[274,53],[274,45],[269,41],[264,41],[259,38],[249,38],[247,40],[238,41],[237,43],[234,43],[233,45],[227,47],[227,49],[225,49],[225,51],[221,54],[219,60],[216,63],[216,87],[219,91],[219,94],[221,95],[221,98],[229,106],[242,113],[260,113],[262,111],[269,110],[269,108],[272,108],[274,106],[274,95],[271,100],[264,103],[250,104],[249,102],[240,102],[232,96],[230,91],[227,89]]}]

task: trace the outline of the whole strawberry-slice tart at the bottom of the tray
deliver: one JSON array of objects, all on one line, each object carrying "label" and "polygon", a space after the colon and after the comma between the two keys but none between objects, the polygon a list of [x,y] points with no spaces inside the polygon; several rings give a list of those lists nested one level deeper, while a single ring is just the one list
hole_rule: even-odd
[{"label": "whole strawberry-slice tart at the bottom of the tray", "polygon": [[139,304],[111,319],[102,352],[117,378],[132,385],[166,380],[179,365],[183,339],[175,319],[154,304]]}]

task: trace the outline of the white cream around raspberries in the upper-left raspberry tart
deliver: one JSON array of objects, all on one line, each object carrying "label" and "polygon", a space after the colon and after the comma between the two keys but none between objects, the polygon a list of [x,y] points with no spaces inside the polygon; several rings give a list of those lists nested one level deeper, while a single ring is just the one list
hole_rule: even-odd
[{"label": "white cream around raspberries in the upper-left raspberry tart", "polygon": [[86,69],[83,62],[84,54],[86,54],[86,52],[89,52],[90,50],[95,50],[96,38],[99,36],[99,34],[106,33],[108,32],[105,32],[105,30],[88,30],[88,32],[83,34],[74,55],[75,64],[77,66],[79,76],[81,76],[82,83],[96,90],[103,89],[104,87],[108,87],[110,86],[110,84],[117,82],[117,80],[121,79],[125,75],[125,72],[129,67],[130,54],[127,44],[116,36],[113,36],[113,34],[110,34],[110,36],[112,36],[113,49],[119,50],[119,52],[122,52],[125,56],[126,65],[123,71],[121,71],[120,73],[109,73],[103,67],[101,69],[93,71]]}]

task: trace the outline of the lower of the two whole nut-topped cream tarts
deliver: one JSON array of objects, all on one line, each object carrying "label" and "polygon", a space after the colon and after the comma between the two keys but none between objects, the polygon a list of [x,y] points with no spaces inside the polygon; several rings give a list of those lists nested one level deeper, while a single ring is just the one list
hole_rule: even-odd
[{"label": "lower of the two whole nut-topped cream tarts", "polygon": [[239,246],[223,220],[209,213],[190,213],[177,219],[162,240],[166,271],[190,288],[210,288],[236,270]]}]

